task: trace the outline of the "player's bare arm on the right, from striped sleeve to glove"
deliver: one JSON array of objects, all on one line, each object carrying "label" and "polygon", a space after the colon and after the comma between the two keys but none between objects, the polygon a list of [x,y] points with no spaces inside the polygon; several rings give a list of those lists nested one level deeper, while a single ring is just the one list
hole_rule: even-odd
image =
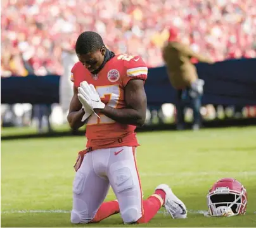
[{"label": "player's bare arm on the right, from striped sleeve to glove", "polygon": [[116,109],[106,105],[105,108],[94,111],[100,111],[100,113],[120,124],[131,124],[141,127],[145,122],[147,105],[144,80],[129,80],[124,92],[127,108]]}]

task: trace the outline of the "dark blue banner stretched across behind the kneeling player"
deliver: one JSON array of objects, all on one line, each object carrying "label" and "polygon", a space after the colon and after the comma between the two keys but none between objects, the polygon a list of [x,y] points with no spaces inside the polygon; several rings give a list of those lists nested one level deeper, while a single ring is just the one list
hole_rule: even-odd
[{"label": "dark blue banner stretched across behind the kneeling player", "polygon": [[[256,59],[196,65],[205,80],[204,104],[256,105]],[[1,78],[1,103],[58,103],[58,75]],[[165,67],[150,68],[145,84],[149,105],[175,103]]]}]

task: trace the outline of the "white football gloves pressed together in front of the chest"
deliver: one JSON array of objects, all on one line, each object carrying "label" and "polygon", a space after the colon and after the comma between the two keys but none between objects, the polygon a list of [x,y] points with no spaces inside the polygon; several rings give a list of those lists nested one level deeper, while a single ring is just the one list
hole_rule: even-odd
[{"label": "white football gloves pressed together in front of the chest", "polygon": [[[94,85],[89,85],[86,81],[80,83],[77,96],[79,98],[79,101],[82,103],[82,106],[91,109],[91,111],[93,111],[94,113],[94,108],[105,108],[105,104],[101,102],[99,94],[96,91]],[[97,114],[95,113],[95,115]],[[97,117],[99,116],[97,115]]]}]

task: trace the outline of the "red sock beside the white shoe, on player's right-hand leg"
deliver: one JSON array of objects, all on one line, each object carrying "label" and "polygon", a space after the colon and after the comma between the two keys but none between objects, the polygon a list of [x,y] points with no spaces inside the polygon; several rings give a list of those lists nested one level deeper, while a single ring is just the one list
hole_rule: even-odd
[{"label": "red sock beside the white shoe, on player's right-hand leg", "polygon": [[163,205],[163,199],[158,194],[153,194],[148,200],[143,200],[143,216],[138,224],[149,222]]}]

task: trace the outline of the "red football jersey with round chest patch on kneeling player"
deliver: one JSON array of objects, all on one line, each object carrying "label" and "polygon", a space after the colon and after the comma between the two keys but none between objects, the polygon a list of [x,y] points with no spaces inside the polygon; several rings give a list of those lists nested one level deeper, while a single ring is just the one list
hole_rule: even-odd
[{"label": "red football jersey with round chest patch on kneeling player", "polygon": [[[132,79],[146,80],[148,68],[139,56],[118,54],[106,62],[98,75],[90,73],[80,62],[75,63],[71,72],[75,87],[86,80],[94,85],[103,103],[113,108],[125,108],[125,85]],[[102,114],[100,117],[93,113],[87,121],[87,148],[139,145],[134,132],[136,126],[120,124]]]}]

